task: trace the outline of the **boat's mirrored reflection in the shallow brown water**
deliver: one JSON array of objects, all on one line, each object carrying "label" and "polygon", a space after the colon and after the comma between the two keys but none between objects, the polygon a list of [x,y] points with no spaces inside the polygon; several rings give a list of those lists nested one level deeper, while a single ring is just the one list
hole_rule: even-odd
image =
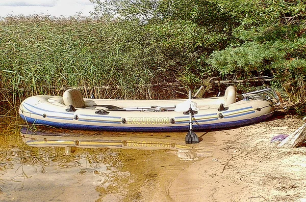
[{"label": "boat's mirrored reflection in the shallow brown water", "polygon": [[[86,131],[44,131],[22,127],[22,141],[32,147],[62,147],[65,154],[70,155],[75,148],[110,148],[110,149],[141,149],[141,150],[176,150],[177,157],[193,160],[197,157],[194,147],[185,142],[169,138],[129,137],[128,135],[94,134]],[[181,138],[182,139],[182,138]]]}]

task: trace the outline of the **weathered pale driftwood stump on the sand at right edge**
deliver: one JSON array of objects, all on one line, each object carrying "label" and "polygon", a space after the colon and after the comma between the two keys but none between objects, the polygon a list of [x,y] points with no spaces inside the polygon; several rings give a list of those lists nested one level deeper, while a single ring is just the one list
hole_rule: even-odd
[{"label": "weathered pale driftwood stump on the sand at right edge", "polygon": [[290,134],[278,145],[278,147],[287,148],[297,148],[303,146],[306,146],[306,124],[299,127],[294,133]]}]

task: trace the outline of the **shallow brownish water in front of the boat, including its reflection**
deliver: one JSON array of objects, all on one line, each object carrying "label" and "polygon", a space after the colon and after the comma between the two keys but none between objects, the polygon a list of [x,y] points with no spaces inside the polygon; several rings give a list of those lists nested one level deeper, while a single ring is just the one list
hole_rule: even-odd
[{"label": "shallow brownish water in front of the boat, including its reflection", "polygon": [[[0,118],[0,201],[171,201],[171,179],[212,155],[186,133],[23,128]],[[206,133],[197,133],[203,137]]]}]

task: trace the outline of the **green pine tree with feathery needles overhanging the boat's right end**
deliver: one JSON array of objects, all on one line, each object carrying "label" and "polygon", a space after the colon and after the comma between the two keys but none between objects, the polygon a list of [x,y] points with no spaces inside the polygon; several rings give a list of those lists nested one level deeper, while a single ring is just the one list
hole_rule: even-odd
[{"label": "green pine tree with feathery needles overhanging the boat's right end", "polygon": [[304,101],[305,2],[214,1],[239,24],[233,30],[239,42],[211,54],[212,68],[226,77],[274,75],[289,101]]}]

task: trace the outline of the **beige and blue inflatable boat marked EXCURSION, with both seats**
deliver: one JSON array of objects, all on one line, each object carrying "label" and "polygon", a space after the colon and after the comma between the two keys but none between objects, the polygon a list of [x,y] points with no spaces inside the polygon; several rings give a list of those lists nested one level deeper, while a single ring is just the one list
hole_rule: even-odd
[{"label": "beige and blue inflatable boat marked EXCURSION, with both seats", "polygon": [[[62,97],[37,95],[25,99],[19,114],[28,125],[104,131],[172,132],[224,129],[265,121],[275,102],[264,89],[236,95],[228,86],[223,97],[177,100],[115,100],[83,98],[77,89]],[[191,118],[190,118],[191,117]]]}]

